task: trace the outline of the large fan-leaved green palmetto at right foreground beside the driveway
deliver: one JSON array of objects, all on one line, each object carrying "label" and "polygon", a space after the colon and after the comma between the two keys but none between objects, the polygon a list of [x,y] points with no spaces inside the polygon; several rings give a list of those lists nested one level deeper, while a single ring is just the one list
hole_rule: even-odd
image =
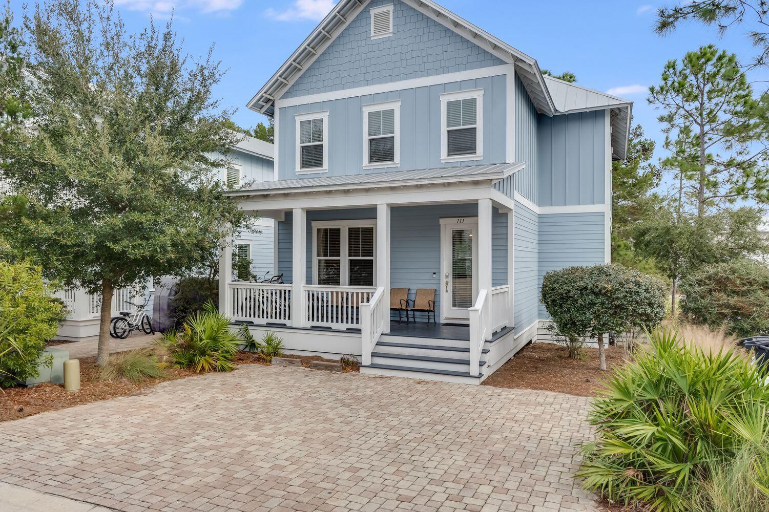
[{"label": "large fan-leaved green palmetto at right foreground beside the driveway", "polygon": [[614,502],[695,510],[714,467],[769,440],[769,386],[737,351],[683,343],[674,331],[650,342],[595,398],[596,436],[581,447],[578,476]]}]

